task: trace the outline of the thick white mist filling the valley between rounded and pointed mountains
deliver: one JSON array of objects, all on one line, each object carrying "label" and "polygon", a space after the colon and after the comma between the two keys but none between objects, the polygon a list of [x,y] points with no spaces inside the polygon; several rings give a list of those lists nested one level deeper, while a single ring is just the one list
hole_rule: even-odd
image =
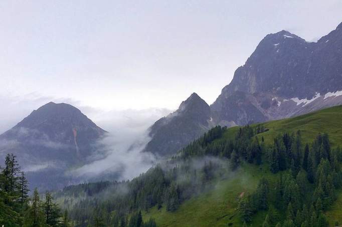
[{"label": "thick white mist filling the valley between rounded and pointed mountains", "polygon": [[91,179],[116,173],[117,180],[126,180],[145,172],[156,161],[153,154],[141,152],[150,140],[148,128],[168,113],[166,109],[146,109],[110,111],[95,116],[96,122],[109,131],[99,142],[103,148],[94,154],[94,161],[70,174]]}]

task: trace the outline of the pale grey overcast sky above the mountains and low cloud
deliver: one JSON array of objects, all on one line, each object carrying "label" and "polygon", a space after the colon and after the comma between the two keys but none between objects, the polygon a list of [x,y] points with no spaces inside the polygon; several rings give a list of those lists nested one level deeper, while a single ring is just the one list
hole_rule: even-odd
[{"label": "pale grey overcast sky above the mountains and low cloud", "polygon": [[267,34],[315,41],[341,12],[340,0],[2,0],[0,106],[176,109],[192,92],[211,104]]}]

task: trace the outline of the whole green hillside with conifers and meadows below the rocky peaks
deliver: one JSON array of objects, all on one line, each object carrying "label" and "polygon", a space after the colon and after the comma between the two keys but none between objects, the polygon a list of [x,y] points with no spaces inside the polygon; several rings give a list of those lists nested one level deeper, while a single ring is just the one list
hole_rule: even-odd
[{"label": "whole green hillside with conifers and meadows below the rocky peaks", "polygon": [[331,205],[342,184],[341,115],[338,106],[217,126],[131,181],[70,186],[56,196],[76,226],[140,226],[129,221],[140,213],[151,226],[328,226],[339,218]]}]

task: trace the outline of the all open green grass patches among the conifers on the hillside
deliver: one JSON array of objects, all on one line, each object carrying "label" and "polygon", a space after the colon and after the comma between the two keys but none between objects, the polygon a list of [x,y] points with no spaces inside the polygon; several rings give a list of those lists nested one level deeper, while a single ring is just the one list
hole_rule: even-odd
[{"label": "all open green grass patches among the conifers on the hillside", "polygon": [[[319,132],[328,133],[331,145],[342,145],[342,106],[332,107],[310,114],[264,123],[270,130],[259,134],[264,136],[266,143],[272,143],[273,138],[284,132],[301,130],[303,142],[312,142]],[[234,138],[238,127],[230,128],[223,139]],[[267,166],[243,164],[235,177],[217,182],[216,187],[206,193],[194,196],[184,202],[176,212],[167,212],[164,208],[153,208],[143,213],[144,220],[153,217],[158,226],[241,226],[240,218],[236,214],[237,198],[241,192],[253,191],[262,176],[274,178]],[[337,201],[326,212],[331,220],[342,222],[342,190]],[[253,223],[262,223],[265,212],[258,212],[253,217]]]}]

